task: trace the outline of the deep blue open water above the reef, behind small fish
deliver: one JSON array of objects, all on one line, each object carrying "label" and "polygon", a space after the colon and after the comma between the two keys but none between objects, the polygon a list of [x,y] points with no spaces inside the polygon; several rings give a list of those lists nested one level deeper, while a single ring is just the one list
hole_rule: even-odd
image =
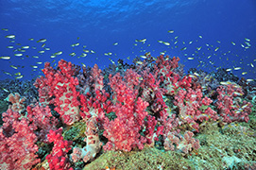
[{"label": "deep blue open water above the reef, behind small fish", "polygon": [[[131,63],[145,52],[157,57],[166,51],[165,54],[179,57],[186,70],[191,67],[206,71],[241,67],[232,72],[237,76],[247,72],[244,76],[255,78],[255,0],[9,0],[0,1],[0,28],[0,57],[11,58],[0,59],[0,79],[15,78],[6,72],[11,75],[20,72],[23,78],[30,79],[41,73],[43,64],[37,62],[53,61],[50,56],[58,51],[63,53],[55,58],[55,62],[66,59],[79,65],[81,62],[89,66],[97,63],[100,68],[111,64],[110,59]],[[168,30],[174,30],[174,33]],[[9,42],[6,35],[15,35],[15,42]],[[174,44],[177,36],[178,42]],[[30,38],[34,41],[29,41]],[[247,46],[245,38],[250,40],[249,48],[241,45]],[[36,42],[40,39],[47,40],[44,47],[41,47],[43,43]],[[135,42],[136,39],[146,41]],[[170,45],[158,41],[170,42]],[[71,46],[77,42],[78,46]],[[118,44],[113,45],[114,42]],[[9,45],[14,48],[7,48]],[[29,49],[23,57],[14,56],[17,52],[13,50],[25,45],[29,45]],[[38,51],[45,47],[50,50],[39,54]],[[180,50],[183,47],[187,49]],[[77,59],[83,49],[95,53]],[[73,52],[75,57],[69,55]],[[104,55],[109,52],[111,56]],[[187,59],[190,57],[195,59]],[[18,66],[18,69],[10,65]],[[33,71],[31,66],[35,65],[38,68]]]}]

